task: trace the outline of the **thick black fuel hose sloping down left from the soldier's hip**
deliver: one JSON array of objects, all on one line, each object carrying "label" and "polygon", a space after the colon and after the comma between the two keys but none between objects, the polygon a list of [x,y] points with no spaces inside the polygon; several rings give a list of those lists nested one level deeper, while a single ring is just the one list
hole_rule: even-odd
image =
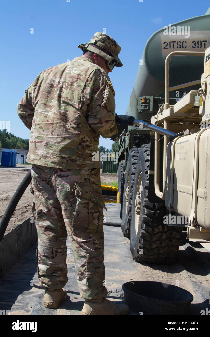
[{"label": "thick black fuel hose sloping down left from the soldier's hip", "polygon": [[25,192],[26,188],[31,182],[31,169],[28,171],[27,175],[23,178],[22,182],[18,186],[17,190],[14,192],[9,205],[7,206],[7,209],[1,219],[0,222],[0,241],[3,240],[4,233],[6,231],[7,225],[9,223],[9,220],[11,219],[11,216],[16,209],[23,193]]}]

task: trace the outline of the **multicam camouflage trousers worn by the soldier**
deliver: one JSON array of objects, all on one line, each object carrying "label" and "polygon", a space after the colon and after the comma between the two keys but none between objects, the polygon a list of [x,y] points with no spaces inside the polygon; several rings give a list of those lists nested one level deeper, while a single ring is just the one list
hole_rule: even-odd
[{"label": "multicam camouflage trousers worn by the soldier", "polygon": [[39,284],[58,289],[67,283],[68,234],[81,297],[87,300],[105,297],[103,208],[106,207],[99,168],[71,170],[32,165],[31,178]]}]

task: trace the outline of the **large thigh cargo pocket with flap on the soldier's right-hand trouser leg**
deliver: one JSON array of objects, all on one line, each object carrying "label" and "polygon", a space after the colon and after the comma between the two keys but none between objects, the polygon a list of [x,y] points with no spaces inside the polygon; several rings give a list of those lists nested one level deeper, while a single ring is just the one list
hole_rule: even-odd
[{"label": "large thigh cargo pocket with flap on the soldier's right-hand trouser leg", "polygon": [[[102,229],[102,209],[106,206],[101,192],[82,183],[74,182],[75,195],[78,199],[72,228],[76,231],[95,233]],[[99,225],[101,228],[99,228]]]}]

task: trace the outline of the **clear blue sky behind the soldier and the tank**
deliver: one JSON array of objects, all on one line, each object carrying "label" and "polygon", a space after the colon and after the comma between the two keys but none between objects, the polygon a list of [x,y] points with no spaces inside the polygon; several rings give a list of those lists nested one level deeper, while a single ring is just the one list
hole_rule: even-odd
[{"label": "clear blue sky behind the soldier and the tank", "polygon": [[[125,114],[144,46],[160,28],[205,14],[209,1],[36,0],[1,2],[0,120],[10,132],[30,138],[17,115],[24,91],[44,69],[81,56],[78,44],[97,31],[112,36],[122,48],[123,67],[110,79],[116,93],[116,113]],[[30,34],[30,29],[34,34]],[[112,141],[100,137],[99,145]]]}]

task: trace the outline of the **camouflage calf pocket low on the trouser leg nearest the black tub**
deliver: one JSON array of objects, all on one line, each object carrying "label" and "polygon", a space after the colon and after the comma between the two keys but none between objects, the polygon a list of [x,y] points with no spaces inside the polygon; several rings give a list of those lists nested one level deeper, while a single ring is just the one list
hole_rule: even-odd
[{"label": "camouflage calf pocket low on the trouser leg nearest the black tub", "polygon": [[86,299],[96,299],[107,296],[105,286],[105,268],[103,264],[103,254],[93,252],[86,255],[86,274],[88,292],[85,294]]}]

